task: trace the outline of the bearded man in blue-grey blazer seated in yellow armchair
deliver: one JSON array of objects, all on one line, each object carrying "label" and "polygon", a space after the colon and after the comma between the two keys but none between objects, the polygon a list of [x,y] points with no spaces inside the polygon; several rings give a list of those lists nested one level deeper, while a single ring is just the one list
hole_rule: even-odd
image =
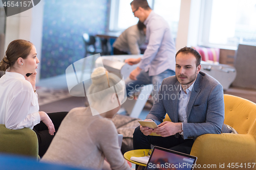
[{"label": "bearded man in blue-grey blazer seated in yellow armchair", "polygon": [[[176,76],[165,78],[145,120],[158,128],[137,127],[134,149],[150,149],[151,144],[190,154],[194,140],[202,134],[220,134],[224,122],[222,85],[201,72],[201,55],[191,47],[176,54]],[[172,122],[163,122],[165,114]],[[150,136],[156,132],[161,136]]]}]

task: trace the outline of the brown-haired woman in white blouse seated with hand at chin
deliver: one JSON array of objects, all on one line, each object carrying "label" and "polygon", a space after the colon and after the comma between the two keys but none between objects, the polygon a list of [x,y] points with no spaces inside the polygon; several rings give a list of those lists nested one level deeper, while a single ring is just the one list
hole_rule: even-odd
[{"label": "brown-haired woman in white blouse seated with hand at chin", "polygon": [[[38,63],[33,43],[18,39],[8,45],[0,63],[0,70],[6,71],[0,79],[0,124],[14,130],[33,129],[42,157],[67,112],[47,114],[39,111],[35,89]],[[28,73],[32,74],[26,76]]]}]

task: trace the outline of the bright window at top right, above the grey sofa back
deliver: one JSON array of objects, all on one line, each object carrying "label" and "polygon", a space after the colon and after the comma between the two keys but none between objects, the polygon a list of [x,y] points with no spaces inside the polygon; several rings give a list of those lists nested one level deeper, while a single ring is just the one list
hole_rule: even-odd
[{"label": "bright window at top right, above the grey sofa back", "polygon": [[205,1],[201,45],[256,45],[256,0]]}]

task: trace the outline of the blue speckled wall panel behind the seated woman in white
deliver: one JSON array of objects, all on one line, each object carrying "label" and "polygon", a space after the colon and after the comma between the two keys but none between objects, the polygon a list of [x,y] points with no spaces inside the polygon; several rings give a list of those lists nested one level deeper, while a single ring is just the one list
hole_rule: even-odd
[{"label": "blue speckled wall panel behind the seated woman in white", "polygon": [[45,0],[40,78],[65,74],[83,58],[83,33],[104,33],[110,0]]}]

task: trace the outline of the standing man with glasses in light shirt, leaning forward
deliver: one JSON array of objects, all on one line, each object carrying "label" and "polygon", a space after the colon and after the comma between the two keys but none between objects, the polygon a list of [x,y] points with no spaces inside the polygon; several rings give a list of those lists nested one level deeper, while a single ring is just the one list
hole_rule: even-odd
[{"label": "standing man with glasses in light shirt, leaning forward", "polygon": [[146,26],[147,48],[143,57],[125,60],[127,64],[138,64],[130,77],[125,80],[126,91],[136,87],[153,84],[153,101],[164,78],[175,75],[175,43],[168,23],[156,14],[146,0],[134,0],[131,3],[135,17]]}]

